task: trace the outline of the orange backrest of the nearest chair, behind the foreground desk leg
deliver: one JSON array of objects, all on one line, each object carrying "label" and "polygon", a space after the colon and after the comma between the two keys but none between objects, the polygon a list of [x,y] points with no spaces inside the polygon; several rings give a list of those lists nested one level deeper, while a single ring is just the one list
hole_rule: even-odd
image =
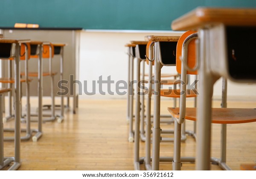
[{"label": "orange backrest of the nearest chair, behind the foreground desk leg", "polygon": [[[177,69],[177,72],[179,74],[181,74],[181,61],[180,61],[180,57],[182,55],[182,45],[183,45],[183,42],[184,40],[191,34],[193,33],[196,33],[196,31],[187,31],[185,32],[183,35],[180,36],[180,39],[178,40],[178,43],[177,43],[177,51],[176,51],[176,69]],[[190,68],[193,68],[196,64],[196,56],[195,56],[195,39],[192,40],[190,43],[189,43],[189,46],[188,46],[188,66]],[[187,71],[187,74],[190,74],[190,75],[197,75],[197,71]]]}]

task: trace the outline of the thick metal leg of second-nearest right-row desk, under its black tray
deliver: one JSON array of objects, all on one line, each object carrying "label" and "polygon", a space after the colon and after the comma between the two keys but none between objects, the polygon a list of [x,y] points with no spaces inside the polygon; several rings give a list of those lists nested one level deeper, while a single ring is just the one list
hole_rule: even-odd
[{"label": "thick metal leg of second-nearest right-row desk, under its black tray", "polygon": [[152,170],[159,170],[160,157],[160,80],[161,67],[158,51],[159,42],[155,43],[155,61],[154,61],[154,122],[153,122],[153,153]]}]

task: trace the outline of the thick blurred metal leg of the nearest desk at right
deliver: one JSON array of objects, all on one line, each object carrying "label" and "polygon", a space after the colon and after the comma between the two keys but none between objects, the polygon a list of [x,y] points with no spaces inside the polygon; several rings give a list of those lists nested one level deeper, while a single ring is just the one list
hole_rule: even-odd
[{"label": "thick blurred metal leg of the nearest desk at right", "polygon": [[209,61],[209,45],[207,45],[207,29],[199,31],[200,39],[200,58],[198,78],[198,107],[197,107],[197,145],[196,145],[196,170],[210,170],[211,156],[211,120],[212,120],[212,92],[214,79],[212,74],[207,70],[207,62]]}]

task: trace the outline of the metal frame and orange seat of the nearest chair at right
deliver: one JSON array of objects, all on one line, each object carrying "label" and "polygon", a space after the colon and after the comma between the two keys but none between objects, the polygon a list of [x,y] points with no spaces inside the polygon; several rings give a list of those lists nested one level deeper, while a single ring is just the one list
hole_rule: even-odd
[{"label": "metal frame and orange seat of the nearest chair at right", "polygon": [[[181,71],[181,78],[186,81],[186,75],[189,74],[187,66],[190,63],[194,63],[193,58],[187,57],[187,48],[189,42],[197,36],[190,35],[186,40],[181,41],[183,43],[183,55],[182,63],[177,66]],[[186,85],[183,84],[181,90],[186,92]],[[226,165],[226,141],[227,141],[227,124],[241,124],[247,122],[256,121],[255,109],[239,109],[239,108],[226,108],[227,107],[227,80],[223,78],[222,87],[222,108],[212,108],[212,123],[221,124],[221,158],[211,158],[211,162],[218,164],[224,170],[231,170]],[[183,94],[180,98],[180,108],[168,108],[169,112],[175,117],[175,142],[174,142],[174,157],[173,157],[173,170],[181,169],[181,157],[180,157],[180,129],[181,124],[185,119],[196,121],[196,108],[186,108],[186,94]],[[245,115],[246,114],[246,115]]]}]

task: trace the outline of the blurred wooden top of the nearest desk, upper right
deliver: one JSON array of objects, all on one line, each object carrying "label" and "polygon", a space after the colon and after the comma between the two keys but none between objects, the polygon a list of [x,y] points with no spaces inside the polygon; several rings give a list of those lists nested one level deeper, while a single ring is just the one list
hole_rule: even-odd
[{"label": "blurred wooden top of the nearest desk, upper right", "polygon": [[196,30],[223,23],[226,26],[256,26],[256,9],[199,7],[172,22],[172,30]]}]

